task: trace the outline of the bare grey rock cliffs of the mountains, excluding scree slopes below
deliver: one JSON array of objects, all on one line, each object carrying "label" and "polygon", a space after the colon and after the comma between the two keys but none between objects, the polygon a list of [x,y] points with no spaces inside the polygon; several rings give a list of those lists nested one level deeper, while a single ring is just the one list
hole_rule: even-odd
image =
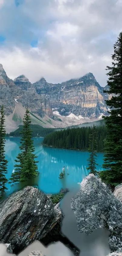
[{"label": "bare grey rock cliffs of the mountains, excluding scree slopes below", "polygon": [[0,89],[0,100],[6,115],[14,111],[15,99],[24,107],[28,104],[31,112],[39,117],[48,115],[55,119],[55,111],[61,116],[72,113],[92,119],[100,117],[101,113],[108,114],[105,104],[108,96],[92,73],[61,84],[48,83],[45,78],[31,84],[24,75],[12,81],[0,64]]}]

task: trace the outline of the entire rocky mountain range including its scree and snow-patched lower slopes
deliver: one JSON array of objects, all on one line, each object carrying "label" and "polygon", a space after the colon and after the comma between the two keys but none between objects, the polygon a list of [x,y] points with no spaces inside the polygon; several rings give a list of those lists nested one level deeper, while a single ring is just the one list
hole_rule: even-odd
[{"label": "entire rocky mountain range including its scree and snow-patched lower slopes", "polygon": [[7,132],[22,123],[26,106],[32,123],[43,127],[67,127],[100,120],[109,110],[104,88],[92,73],[61,84],[48,83],[45,78],[31,84],[24,75],[12,80],[0,64],[0,105],[5,107]]}]

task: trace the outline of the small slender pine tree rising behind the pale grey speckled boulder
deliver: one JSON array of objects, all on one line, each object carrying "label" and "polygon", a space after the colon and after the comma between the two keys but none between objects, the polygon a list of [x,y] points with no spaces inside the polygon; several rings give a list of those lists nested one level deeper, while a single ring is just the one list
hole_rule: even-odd
[{"label": "small slender pine tree rising behind the pale grey speckled boulder", "polygon": [[90,171],[90,173],[93,173],[94,175],[97,174],[97,169],[96,166],[98,165],[96,163],[96,153],[95,153],[95,149],[97,146],[97,132],[96,132],[96,127],[95,125],[93,125],[91,134],[89,135],[89,147],[88,147],[88,151],[90,152],[90,156],[87,159],[88,161],[88,167],[87,170]]}]

